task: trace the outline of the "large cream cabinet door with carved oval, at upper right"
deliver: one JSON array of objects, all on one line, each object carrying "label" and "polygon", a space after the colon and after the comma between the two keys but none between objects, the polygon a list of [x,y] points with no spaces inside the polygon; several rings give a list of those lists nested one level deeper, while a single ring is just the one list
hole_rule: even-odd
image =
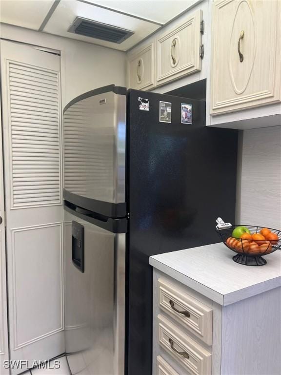
[{"label": "large cream cabinet door with carved oval, at upper right", "polygon": [[212,9],[211,114],[278,102],[277,0],[217,0]]}]

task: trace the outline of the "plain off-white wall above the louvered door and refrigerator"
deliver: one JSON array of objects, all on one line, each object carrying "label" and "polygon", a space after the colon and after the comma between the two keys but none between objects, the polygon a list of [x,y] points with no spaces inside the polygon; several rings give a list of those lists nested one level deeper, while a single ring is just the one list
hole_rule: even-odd
[{"label": "plain off-white wall above the louvered door and refrigerator", "polygon": [[8,24],[1,24],[0,36],[61,51],[62,108],[94,88],[126,86],[124,52]]}]

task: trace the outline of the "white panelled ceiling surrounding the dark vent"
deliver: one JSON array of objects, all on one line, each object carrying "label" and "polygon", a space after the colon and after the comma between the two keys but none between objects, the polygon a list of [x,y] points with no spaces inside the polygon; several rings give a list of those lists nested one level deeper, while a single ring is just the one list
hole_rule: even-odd
[{"label": "white panelled ceiling surrounding the dark vent", "polygon": [[[126,51],[194,0],[0,0],[0,21]],[[76,17],[134,32],[120,44],[68,32]]]}]

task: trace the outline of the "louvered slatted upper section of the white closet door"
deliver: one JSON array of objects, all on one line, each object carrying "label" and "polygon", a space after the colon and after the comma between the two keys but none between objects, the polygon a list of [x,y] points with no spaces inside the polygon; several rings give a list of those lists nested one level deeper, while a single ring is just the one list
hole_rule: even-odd
[{"label": "louvered slatted upper section of the white closet door", "polygon": [[13,208],[61,203],[59,78],[9,63]]}]

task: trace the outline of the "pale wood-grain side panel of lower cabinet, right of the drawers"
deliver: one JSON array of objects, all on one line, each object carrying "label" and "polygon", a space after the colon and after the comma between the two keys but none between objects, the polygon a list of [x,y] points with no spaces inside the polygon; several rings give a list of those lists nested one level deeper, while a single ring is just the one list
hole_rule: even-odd
[{"label": "pale wood-grain side panel of lower cabinet, right of the drawers", "polygon": [[222,309],[221,374],[278,375],[281,287]]}]

